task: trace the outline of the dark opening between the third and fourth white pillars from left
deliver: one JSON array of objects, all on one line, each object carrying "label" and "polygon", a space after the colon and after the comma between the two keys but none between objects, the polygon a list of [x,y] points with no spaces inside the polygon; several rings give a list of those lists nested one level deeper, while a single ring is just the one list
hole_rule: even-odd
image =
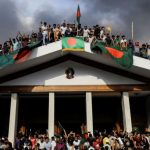
[{"label": "dark opening between the third and fourth white pillars from left", "polygon": [[122,107],[120,94],[100,93],[93,96],[94,130],[111,132],[116,123],[122,128]]}]

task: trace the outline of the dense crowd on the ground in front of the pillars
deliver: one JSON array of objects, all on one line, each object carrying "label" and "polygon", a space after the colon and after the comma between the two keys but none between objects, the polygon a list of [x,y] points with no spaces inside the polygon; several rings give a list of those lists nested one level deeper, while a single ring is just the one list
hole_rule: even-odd
[{"label": "dense crowd on the ground in front of the pillars", "polygon": [[[0,149],[12,150],[12,144],[7,138],[0,138]],[[95,131],[78,134],[71,131],[67,134],[49,138],[46,134],[34,134],[16,137],[16,150],[149,150],[150,134],[138,132],[127,133],[112,131]]]}]

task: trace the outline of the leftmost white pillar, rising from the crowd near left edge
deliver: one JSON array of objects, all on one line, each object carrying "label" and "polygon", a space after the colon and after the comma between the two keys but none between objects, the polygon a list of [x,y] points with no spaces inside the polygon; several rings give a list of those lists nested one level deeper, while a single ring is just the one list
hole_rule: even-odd
[{"label": "leftmost white pillar, rising from the crowd near left edge", "polygon": [[9,131],[8,140],[14,147],[15,138],[17,133],[17,121],[18,121],[18,94],[11,94],[11,105],[10,105],[10,117],[9,117]]}]

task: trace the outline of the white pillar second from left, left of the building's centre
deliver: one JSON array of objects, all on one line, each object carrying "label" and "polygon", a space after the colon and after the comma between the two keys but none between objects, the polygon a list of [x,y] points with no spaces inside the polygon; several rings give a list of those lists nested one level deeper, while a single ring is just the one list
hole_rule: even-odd
[{"label": "white pillar second from left, left of the building's centre", "polygon": [[48,135],[49,135],[49,138],[54,136],[54,117],[55,117],[55,94],[49,93],[49,108],[48,108]]}]

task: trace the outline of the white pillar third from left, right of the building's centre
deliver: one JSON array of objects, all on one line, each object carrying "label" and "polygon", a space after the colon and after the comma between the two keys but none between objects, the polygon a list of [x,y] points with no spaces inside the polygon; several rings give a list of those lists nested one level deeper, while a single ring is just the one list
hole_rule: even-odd
[{"label": "white pillar third from left, right of the building's centre", "polygon": [[86,92],[86,124],[87,131],[93,134],[93,109],[91,92]]}]

